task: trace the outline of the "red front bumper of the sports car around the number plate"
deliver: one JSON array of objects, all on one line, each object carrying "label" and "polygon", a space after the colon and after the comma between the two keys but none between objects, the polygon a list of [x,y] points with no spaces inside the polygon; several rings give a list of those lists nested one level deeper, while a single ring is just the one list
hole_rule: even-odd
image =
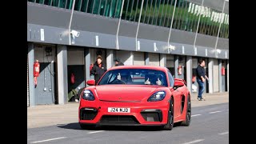
[{"label": "red front bumper of the sports car around the number plate", "polygon": [[[80,124],[108,126],[163,126],[167,123],[169,102],[82,102]],[[130,108],[130,113],[108,112],[109,107]]]}]

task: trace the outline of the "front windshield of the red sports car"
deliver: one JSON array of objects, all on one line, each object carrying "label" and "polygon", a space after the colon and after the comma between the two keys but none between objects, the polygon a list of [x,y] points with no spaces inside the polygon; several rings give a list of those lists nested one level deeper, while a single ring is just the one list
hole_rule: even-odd
[{"label": "front windshield of the red sports car", "polygon": [[165,72],[150,69],[110,70],[98,83],[98,85],[112,84],[168,86]]}]

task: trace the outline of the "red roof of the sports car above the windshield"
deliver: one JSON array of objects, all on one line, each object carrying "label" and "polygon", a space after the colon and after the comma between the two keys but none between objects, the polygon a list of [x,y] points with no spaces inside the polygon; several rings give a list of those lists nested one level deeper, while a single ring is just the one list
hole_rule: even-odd
[{"label": "red roof of the sports car above the windshield", "polygon": [[134,66],[134,65],[130,65],[130,66],[114,66],[111,67],[109,70],[120,70],[120,69],[150,69],[150,70],[162,70],[162,71],[166,71],[166,67],[163,66]]}]

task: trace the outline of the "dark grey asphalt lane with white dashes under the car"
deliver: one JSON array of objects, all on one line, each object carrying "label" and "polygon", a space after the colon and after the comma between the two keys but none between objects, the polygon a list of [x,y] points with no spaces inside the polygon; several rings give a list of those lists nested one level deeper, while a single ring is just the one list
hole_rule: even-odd
[{"label": "dark grey asphalt lane with white dashes under the car", "polygon": [[192,107],[190,126],[173,130],[142,126],[100,126],[81,130],[77,122],[27,130],[27,143],[229,143],[229,103]]}]

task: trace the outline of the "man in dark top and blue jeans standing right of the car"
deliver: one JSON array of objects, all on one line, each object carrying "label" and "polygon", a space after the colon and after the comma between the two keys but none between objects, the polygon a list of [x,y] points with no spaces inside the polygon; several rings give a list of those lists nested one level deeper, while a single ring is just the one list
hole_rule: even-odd
[{"label": "man in dark top and blue jeans standing right of the car", "polygon": [[209,80],[209,78],[206,76],[206,70],[205,67],[206,62],[204,59],[200,59],[198,62],[198,67],[197,67],[197,82],[198,82],[198,101],[205,101],[205,98],[202,98],[202,93],[205,90],[205,85],[204,82],[206,82],[206,79]]}]

